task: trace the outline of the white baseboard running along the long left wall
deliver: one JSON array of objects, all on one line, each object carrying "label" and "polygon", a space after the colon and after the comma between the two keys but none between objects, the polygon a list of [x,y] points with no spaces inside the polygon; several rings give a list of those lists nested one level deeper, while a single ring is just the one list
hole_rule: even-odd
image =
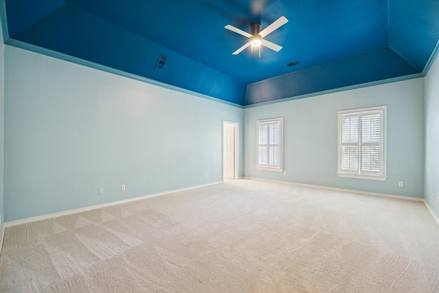
[{"label": "white baseboard running along the long left wall", "polygon": [[[27,223],[31,223],[31,222],[36,222],[36,221],[41,221],[41,220],[47,220],[47,219],[51,219],[51,218],[56,218],[56,217],[60,217],[62,215],[71,215],[72,213],[82,213],[84,211],[91,211],[92,209],[102,209],[103,207],[111,207],[113,205],[117,205],[117,204],[124,204],[127,202],[134,202],[137,200],[143,200],[145,198],[153,198],[156,196],[165,196],[166,194],[174,194],[175,192],[180,192],[180,191],[187,191],[190,189],[195,189],[195,188],[200,188],[200,187],[206,187],[206,186],[210,186],[210,185],[216,185],[218,183],[222,183],[222,181],[215,181],[213,183],[206,183],[206,184],[202,184],[202,185],[195,185],[195,186],[191,186],[191,187],[185,187],[185,188],[180,188],[180,189],[173,189],[173,190],[169,190],[169,191],[164,191],[164,192],[159,192],[157,194],[148,194],[147,196],[139,196],[137,198],[128,198],[126,200],[118,200],[115,202],[107,202],[105,204],[95,204],[89,207],[82,207],[79,209],[70,209],[69,211],[60,211],[58,213],[48,213],[47,215],[38,215],[36,217],[32,217],[32,218],[25,218],[22,220],[15,220],[15,221],[10,221],[10,222],[5,222],[4,223],[4,227],[11,227],[11,226],[16,226],[16,225],[21,225],[21,224],[27,224]],[[3,231],[3,235],[4,235],[4,231]],[[1,247],[1,246],[0,246]]]}]

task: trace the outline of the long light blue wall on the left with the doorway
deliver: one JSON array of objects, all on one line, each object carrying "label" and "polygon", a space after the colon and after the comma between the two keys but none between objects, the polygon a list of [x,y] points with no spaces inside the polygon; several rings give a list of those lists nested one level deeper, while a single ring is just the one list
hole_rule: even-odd
[{"label": "long light blue wall on the left with the doorway", "polygon": [[5,60],[6,221],[220,181],[222,120],[244,130],[241,108],[8,45]]}]

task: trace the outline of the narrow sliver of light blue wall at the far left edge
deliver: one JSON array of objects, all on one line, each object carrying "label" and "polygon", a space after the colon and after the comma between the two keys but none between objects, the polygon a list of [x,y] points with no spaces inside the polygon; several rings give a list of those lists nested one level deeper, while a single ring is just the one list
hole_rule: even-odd
[{"label": "narrow sliver of light blue wall at the far left edge", "polygon": [[[3,239],[4,227],[4,102],[5,102],[5,45],[3,42],[3,27],[1,25],[1,10],[0,10],[0,241]],[[0,243],[1,248],[1,243]]]}]

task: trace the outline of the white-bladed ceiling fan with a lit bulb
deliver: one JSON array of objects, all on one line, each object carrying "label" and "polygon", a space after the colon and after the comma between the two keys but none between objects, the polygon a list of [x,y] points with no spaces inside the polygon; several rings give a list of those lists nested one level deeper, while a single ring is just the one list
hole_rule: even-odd
[{"label": "white-bladed ceiling fan with a lit bulb", "polygon": [[232,32],[236,32],[237,34],[240,34],[241,36],[246,36],[247,38],[250,38],[250,41],[246,43],[246,45],[240,47],[236,51],[233,52],[233,55],[237,55],[241,53],[246,47],[252,45],[252,47],[259,47],[259,56],[261,56],[261,45],[268,47],[276,52],[282,49],[282,46],[276,45],[268,40],[264,40],[264,37],[268,34],[274,32],[274,30],[277,30],[282,25],[285,25],[285,23],[288,22],[288,19],[285,16],[279,17],[274,23],[271,25],[268,25],[268,27],[265,27],[261,31],[261,25],[259,23],[251,23],[251,30],[252,33],[249,34],[248,32],[244,32],[243,30],[239,30],[239,28],[234,27],[232,25],[226,25],[224,28],[226,30],[231,30]]}]

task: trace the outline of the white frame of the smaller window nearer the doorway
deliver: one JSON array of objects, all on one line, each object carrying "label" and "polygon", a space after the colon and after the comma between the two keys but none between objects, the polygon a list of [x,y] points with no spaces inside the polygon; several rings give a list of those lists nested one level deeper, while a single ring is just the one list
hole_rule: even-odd
[{"label": "white frame of the smaller window nearer the doorway", "polygon": [[[259,164],[259,126],[262,124],[279,124],[279,143],[278,144],[262,144],[268,146],[268,164]],[[270,135],[270,134],[268,134]],[[270,136],[267,138],[268,142],[270,142]],[[278,145],[279,148],[279,165],[270,165],[270,145]],[[283,117],[281,118],[274,118],[274,119],[262,119],[257,120],[256,123],[256,169],[258,170],[265,170],[265,171],[274,171],[274,172],[282,172],[283,171]]]}]

